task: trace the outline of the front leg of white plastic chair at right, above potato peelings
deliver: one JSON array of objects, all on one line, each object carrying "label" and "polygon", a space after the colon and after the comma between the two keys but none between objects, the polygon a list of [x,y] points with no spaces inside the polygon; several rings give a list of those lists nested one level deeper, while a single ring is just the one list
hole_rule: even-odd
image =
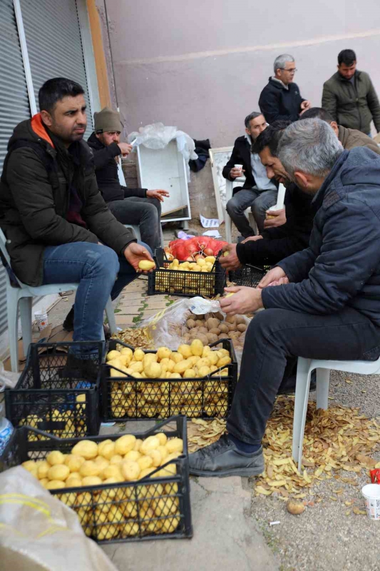
[{"label": "front leg of white plastic chair at right, above potato peelings", "polygon": [[306,411],[308,409],[309,400],[311,373],[310,362],[310,359],[298,357],[296,399],[294,400],[292,456],[298,465],[299,471],[301,471],[302,467],[302,444],[304,441]]}]

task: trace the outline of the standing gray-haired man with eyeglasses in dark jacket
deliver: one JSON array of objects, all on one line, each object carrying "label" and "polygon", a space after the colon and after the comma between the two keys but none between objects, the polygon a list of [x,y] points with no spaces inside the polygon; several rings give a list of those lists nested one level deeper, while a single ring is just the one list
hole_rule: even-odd
[{"label": "standing gray-haired man with eyeglasses in dark jacket", "polygon": [[279,55],[274,60],[274,75],[261,91],[258,105],[268,123],[278,120],[297,121],[310,101],[302,99],[297,83],[293,83],[296,63],[289,54]]}]

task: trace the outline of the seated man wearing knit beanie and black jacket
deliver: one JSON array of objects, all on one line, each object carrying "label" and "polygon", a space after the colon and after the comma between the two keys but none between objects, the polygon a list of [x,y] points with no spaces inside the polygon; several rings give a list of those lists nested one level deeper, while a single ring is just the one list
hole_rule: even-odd
[{"label": "seated man wearing knit beanie and black jacket", "polygon": [[95,131],[87,140],[94,153],[98,187],[112,214],[122,224],[136,224],[142,242],[154,251],[161,245],[161,202],[165,190],[127,188],[119,182],[118,157],[127,156],[132,146],[120,143],[123,125],[118,111],[104,107],[94,113]]}]

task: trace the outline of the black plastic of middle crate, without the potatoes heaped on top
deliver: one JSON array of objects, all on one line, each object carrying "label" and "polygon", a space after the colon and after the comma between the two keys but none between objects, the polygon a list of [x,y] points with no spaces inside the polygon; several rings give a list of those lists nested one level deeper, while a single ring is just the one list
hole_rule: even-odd
[{"label": "black plastic of middle crate, without the potatoes heaped on top", "polygon": [[[118,345],[133,350],[119,339],[110,339],[106,354]],[[221,367],[228,369],[228,376],[213,377],[213,372],[203,378],[140,379],[120,372],[120,377],[111,377],[110,366],[104,363],[100,381],[102,421],[167,419],[178,414],[192,419],[227,418],[237,383],[237,360],[231,339],[209,346],[217,345],[231,356],[231,363]]]}]

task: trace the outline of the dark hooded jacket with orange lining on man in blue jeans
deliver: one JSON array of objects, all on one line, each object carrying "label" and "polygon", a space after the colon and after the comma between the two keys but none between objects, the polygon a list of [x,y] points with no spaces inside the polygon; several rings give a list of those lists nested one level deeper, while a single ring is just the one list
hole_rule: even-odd
[{"label": "dark hooded jacket with orange lining on man in blue jeans", "polygon": [[[12,150],[17,144],[21,146]],[[11,267],[19,280],[30,286],[42,284],[46,246],[96,244],[100,240],[120,255],[136,241],[134,233],[115,219],[100,195],[87,144],[72,144],[81,159],[82,166],[72,168],[80,168],[78,180],[82,183],[76,190],[87,228],[66,220],[68,183],[41,115],[19,123],[8,143],[0,180],[0,226],[7,238]]]}]

